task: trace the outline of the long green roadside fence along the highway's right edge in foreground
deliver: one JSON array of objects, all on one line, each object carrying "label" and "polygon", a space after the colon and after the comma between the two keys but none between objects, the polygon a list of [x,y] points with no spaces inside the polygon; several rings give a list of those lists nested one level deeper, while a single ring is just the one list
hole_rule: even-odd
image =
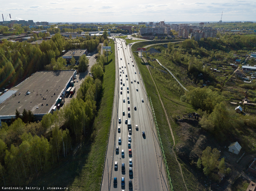
[{"label": "long green roadside fence along the highway's right edge in foreground", "polygon": [[159,144],[160,144],[161,153],[162,153],[162,159],[163,159],[164,167],[165,167],[165,170],[166,170],[166,176],[167,176],[167,179],[168,179],[171,191],[174,191],[173,186],[172,186],[172,180],[171,180],[169,168],[168,168],[166,157],[165,157],[164,150],[163,150],[163,145],[162,145],[162,141],[161,141],[158,125],[157,125],[156,115],[155,115],[153,104],[152,104],[152,101],[151,101],[150,97],[149,97],[149,102],[150,102],[150,106],[151,106],[151,109],[152,109],[152,113],[153,113],[153,117],[154,117],[154,122],[155,122],[155,125],[156,125],[157,135],[158,135]]}]

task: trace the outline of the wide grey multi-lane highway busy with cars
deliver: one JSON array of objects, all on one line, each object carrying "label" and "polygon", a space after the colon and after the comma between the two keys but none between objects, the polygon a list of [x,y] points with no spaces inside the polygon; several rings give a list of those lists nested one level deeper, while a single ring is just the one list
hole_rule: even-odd
[{"label": "wide grey multi-lane highway busy with cars", "polygon": [[[168,190],[165,171],[160,166],[162,160],[154,133],[153,120],[149,117],[151,111],[138,67],[130,46],[126,45],[123,39],[116,39],[115,50],[116,88],[112,129],[101,190]],[[137,109],[134,109],[135,106]],[[119,118],[121,123],[118,122]],[[132,133],[130,134],[125,123],[126,119],[131,120]],[[135,128],[136,125],[138,129]],[[142,136],[142,131],[145,132],[145,136]],[[131,136],[131,141],[128,141],[128,135]],[[121,143],[118,143],[119,137]],[[130,147],[128,142],[131,142]],[[116,153],[116,147],[119,147],[119,153]],[[129,148],[132,150],[131,155],[128,154]],[[121,150],[124,150],[124,156],[121,156]],[[132,159],[132,165],[129,165],[129,159]],[[114,167],[115,162],[118,164],[117,168]],[[125,164],[125,171],[121,170],[122,163]],[[129,175],[129,167],[132,167],[133,175]],[[117,177],[116,185],[114,185],[115,177]],[[124,186],[121,186],[122,177],[125,180]],[[132,188],[128,186],[129,180],[132,181]]]}]

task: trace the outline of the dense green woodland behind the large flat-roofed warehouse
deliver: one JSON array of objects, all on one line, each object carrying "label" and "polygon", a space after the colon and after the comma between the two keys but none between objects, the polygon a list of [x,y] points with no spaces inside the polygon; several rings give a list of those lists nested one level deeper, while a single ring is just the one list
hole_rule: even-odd
[{"label": "dense green woodland behind the large flat-roofed warehouse", "polygon": [[65,40],[60,34],[55,34],[51,40],[43,41],[40,45],[3,40],[0,44],[0,88],[12,86],[38,70],[64,69],[66,61],[59,58],[63,50],[87,48],[88,51],[93,51],[103,41],[103,37],[96,36],[77,41]]}]

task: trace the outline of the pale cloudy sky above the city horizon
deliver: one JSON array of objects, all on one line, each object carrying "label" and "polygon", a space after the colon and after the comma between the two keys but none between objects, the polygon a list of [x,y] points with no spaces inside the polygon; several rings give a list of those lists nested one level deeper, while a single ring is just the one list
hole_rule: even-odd
[{"label": "pale cloudy sky above the city horizon", "polygon": [[[256,21],[255,0],[0,0],[4,20],[34,22]],[[2,18],[1,18],[2,21]]]}]

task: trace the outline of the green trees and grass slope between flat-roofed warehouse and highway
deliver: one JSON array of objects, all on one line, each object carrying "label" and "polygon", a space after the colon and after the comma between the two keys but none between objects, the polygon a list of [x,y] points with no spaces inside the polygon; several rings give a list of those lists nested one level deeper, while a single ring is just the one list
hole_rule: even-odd
[{"label": "green trees and grass slope between flat-roofed warehouse and highway", "polygon": [[[114,43],[109,45],[114,50]],[[10,126],[2,123],[1,185],[99,189],[113,105],[115,52],[106,60],[98,57],[93,78],[86,77],[76,98],[59,112],[33,122],[31,111],[24,110],[21,117],[16,110]]]}]

